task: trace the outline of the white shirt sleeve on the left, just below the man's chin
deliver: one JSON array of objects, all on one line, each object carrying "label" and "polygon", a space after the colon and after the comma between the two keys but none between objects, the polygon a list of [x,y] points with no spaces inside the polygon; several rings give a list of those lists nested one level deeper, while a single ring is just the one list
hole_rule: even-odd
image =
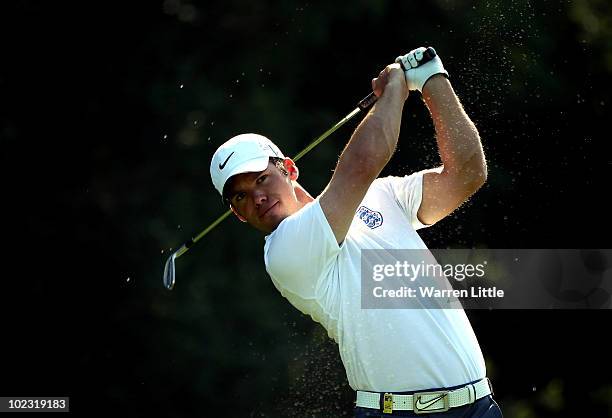
[{"label": "white shirt sleeve on the left, just below the man's chin", "polygon": [[340,249],[317,198],[266,237],[266,270],[283,296],[320,299]]}]

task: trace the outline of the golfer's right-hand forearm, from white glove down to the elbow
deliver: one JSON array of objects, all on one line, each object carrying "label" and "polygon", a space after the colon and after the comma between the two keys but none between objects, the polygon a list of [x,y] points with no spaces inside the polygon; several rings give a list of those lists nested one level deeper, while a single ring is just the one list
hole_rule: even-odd
[{"label": "golfer's right-hand forearm, from white glove down to the elbow", "polygon": [[423,88],[423,99],[434,122],[444,170],[484,181],[487,168],[478,130],[448,79],[432,77]]}]

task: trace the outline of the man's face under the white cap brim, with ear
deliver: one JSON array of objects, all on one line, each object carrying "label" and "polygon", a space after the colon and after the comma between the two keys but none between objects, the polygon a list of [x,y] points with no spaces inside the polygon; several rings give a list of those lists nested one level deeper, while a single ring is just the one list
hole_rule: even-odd
[{"label": "man's face under the white cap brim, with ear", "polygon": [[264,171],[238,174],[228,180],[227,197],[242,221],[270,233],[283,219],[299,210],[301,206],[292,183],[297,178],[295,166],[285,160],[285,167],[289,174],[282,173],[270,162]]}]

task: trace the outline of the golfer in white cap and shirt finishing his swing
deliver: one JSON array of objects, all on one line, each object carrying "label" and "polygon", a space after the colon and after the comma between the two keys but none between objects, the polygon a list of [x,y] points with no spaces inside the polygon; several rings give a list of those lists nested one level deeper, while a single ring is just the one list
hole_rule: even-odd
[{"label": "golfer in white cap and shirt finishing his swing", "polygon": [[[361,251],[426,249],[416,231],[453,212],[487,177],[476,127],[440,58],[425,62],[424,52],[399,57],[372,80],[378,101],[319,196],[256,134],[221,145],[211,177],[234,214],[266,234],[276,288],[338,343],[357,391],[356,417],[501,417],[463,309],[361,308]],[[443,166],[378,178],[396,148],[409,91],[421,92],[429,108]]]}]

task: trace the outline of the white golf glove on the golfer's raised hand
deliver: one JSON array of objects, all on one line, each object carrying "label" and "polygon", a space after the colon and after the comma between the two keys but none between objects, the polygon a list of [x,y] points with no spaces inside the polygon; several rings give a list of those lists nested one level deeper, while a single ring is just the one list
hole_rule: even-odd
[{"label": "white golf glove on the golfer's raised hand", "polygon": [[442,60],[432,47],[413,49],[406,55],[397,57],[395,62],[401,64],[404,69],[408,90],[418,90],[422,93],[427,80],[436,74],[444,74],[448,78]]}]

